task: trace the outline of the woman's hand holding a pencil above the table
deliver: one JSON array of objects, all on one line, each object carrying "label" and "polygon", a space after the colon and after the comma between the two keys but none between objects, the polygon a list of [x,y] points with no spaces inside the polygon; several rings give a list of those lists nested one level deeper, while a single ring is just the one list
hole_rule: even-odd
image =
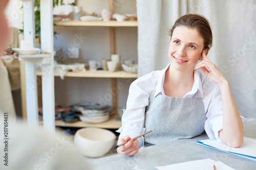
[{"label": "woman's hand holding a pencil above the table", "polygon": [[117,148],[118,153],[121,152],[125,155],[133,156],[139,151],[138,139],[133,140],[130,136],[124,136],[118,140],[117,144],[121,144],[125,141],[128,142]]}]

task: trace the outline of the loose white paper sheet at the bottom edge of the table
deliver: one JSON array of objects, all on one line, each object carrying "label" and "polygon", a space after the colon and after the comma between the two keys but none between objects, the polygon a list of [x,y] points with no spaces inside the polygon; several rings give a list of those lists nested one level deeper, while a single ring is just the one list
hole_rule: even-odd
[{"label": "loose white paper sheet at the bottom edge of the table", "polygon": [[196,169],[196,170],[205,170],[205,169],[214,169],[218,170],[233,170],[230,166],[222,163],[221,161],[215,161],[212,159],[201,159],[201,160],[195,160],[195,161],[189,161],[189,162],[182,162],[182,163],[176,163],[172,165],[166,165],[166,166],[156,166],[159,170],[175,170],[175,169]]}]

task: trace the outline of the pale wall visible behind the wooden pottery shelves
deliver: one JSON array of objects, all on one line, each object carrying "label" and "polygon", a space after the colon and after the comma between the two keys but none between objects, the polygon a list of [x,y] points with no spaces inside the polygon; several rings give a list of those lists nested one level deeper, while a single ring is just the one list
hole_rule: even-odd
[{"label": "pale wall visible behind the wooden pottery shelves", "polygon": [[[108,0],[77,0],[88,13],[100,13],[109,9]],[[56,11],[55,11],[56,12]],[[136,0],[115,1],[114,13],[136,13]],[[109,28],[98,27],[55,27],[58,34],[54,45],[62,47],[65,57],[63,63],[88,63],[89,60],[101,62],[102,58],[110,58]],[[74,39],[82,36],[82,42],[75,46],[80,49],[78,59],[68,58],[68,49],[74,45]],[[137,62],[137,28],[115,28],[116,54],[121,59],[132,59]],[[126,106],[129,86],[135,79],[117,79],[123,86],[117,93],[118,107]],[[55,78],[55,102],[62,106],[83,102],[99,102],[112,105],[111,79],[109,78]]]}]

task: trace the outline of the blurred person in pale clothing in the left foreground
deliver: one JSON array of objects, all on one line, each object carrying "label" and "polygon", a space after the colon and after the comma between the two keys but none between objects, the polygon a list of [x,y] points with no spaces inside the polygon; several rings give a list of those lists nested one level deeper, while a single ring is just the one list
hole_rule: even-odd
[{"label": "blurred person in pale clothing in the left foreground", "polygon": [[[0,1],[1,54],[9,37],[8,21],[4,14],[7,4],[8,0]],[[76,151],[73,141],[62,136],[58,130],[53,134],[39,127],[28,127],[22,120],[4,116],[4,112],[0,108],[0,169],[91,169]]]}]

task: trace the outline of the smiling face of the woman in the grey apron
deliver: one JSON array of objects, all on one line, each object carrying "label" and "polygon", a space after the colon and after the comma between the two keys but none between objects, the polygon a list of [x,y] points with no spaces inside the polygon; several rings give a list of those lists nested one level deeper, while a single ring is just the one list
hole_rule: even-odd
[{"label": "smiling face of the woman in the grey apron", "polygon": [[196,29],[175,28],[170,38],[168,56],[173,67],[180,71],[194,70],[202,57],[204,40]]}]

